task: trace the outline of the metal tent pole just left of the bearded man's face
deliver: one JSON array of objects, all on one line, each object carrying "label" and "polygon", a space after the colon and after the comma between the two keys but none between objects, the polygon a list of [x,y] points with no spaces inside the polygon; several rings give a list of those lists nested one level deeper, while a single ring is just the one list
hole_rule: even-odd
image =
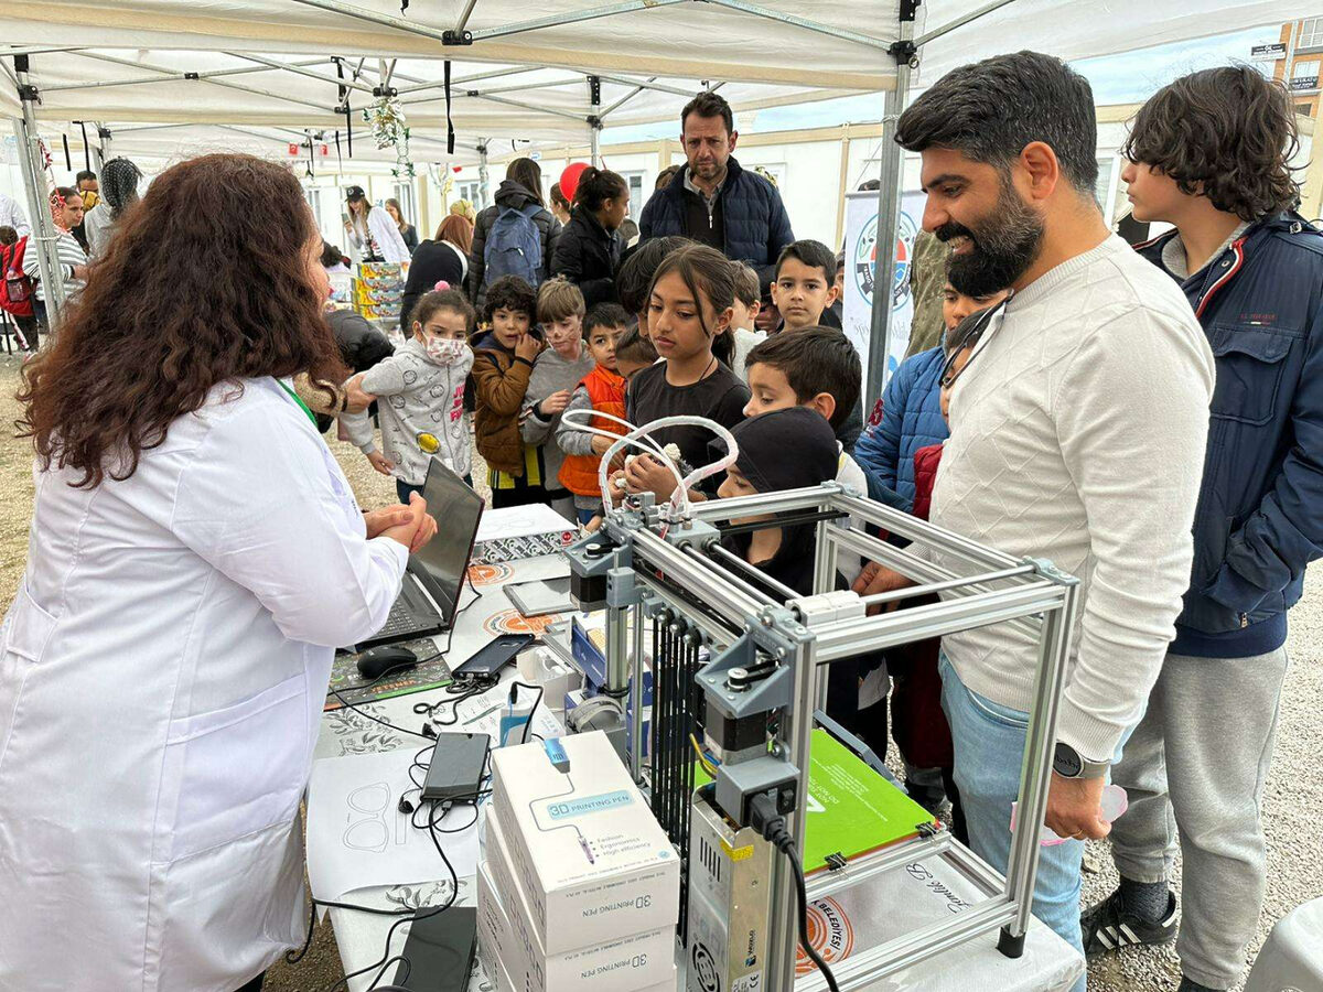
[{"label": "metal tent pole just left of the bearded man's face", "polygon": [[882,145],[877,172],[877,259],[873,270],[873,317],[868,343],[867,399],[872,403],[886,381],[886,357],[892,339],[892,283],[896,279],[896,229],[905,173],[905,153],[896,147],[896,124],[909,98],[910,71],[918,65],[914,48],[914,15],[918,0],[901,0],[900,40],[892,45],[896,89],[886,91],[882,111]]}]

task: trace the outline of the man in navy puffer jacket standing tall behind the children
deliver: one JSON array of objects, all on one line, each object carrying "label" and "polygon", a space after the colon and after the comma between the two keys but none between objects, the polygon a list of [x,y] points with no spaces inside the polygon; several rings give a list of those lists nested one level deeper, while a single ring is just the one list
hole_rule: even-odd
[{"label": "man in navy puffer jacket standing tall behind the children", "polygon": [[679,234],[747,262],[771,286],[777,257],[795,239],[781,193],[730,155],[740,140],[730,104],[700,93],[680,114],[688,165],[659,189],[639,218],[640,241]]}]

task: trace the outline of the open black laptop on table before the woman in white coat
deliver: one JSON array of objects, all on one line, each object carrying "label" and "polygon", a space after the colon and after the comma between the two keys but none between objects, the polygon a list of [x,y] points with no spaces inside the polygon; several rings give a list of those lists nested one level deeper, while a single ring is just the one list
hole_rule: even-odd
[{"label": "open black laptop on table before the woman in white coat", "polygon": [[355,644],[355,651],[430,638],[450,630],[455,620],[483,516],[483,497],[437,459],[427,468],[422,496],[427,500],[427,513],[437,518],[437,536],[409,556],[390,616],[380,631]]}]

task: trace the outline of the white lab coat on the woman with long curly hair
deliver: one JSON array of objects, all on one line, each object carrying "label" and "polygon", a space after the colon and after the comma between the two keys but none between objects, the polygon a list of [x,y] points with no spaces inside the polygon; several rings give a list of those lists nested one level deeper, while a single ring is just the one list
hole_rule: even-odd
[{"label": "white lab coat on the woman with long curly hair", "polygon": [[36,474],[0,628],[0,991],[233,992],[302,943],[333,645],[380,628],[407,553],[270,378],[130,479],[77,477]]}]

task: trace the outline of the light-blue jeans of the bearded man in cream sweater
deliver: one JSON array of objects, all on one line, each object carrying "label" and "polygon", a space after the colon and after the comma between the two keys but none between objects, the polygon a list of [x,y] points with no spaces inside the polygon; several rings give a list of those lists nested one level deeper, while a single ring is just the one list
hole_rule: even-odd
[{"label": "light-blue jeans of the bearded man in cream sweater", "polygon": [[[966,688],[945,653],[938,669],[942,675],[942,709],[955,745],[955,787],[964,804],[970,847],[998,872],[1005,873],[1011,860],[1011,803],[1020,795],[1020,761],[1029,716]],[[1118,759],[1122,745],[1125,738],[1117,746]],[[1033,885],[1033,915],[1081,954],[1082,861],[1081,840],[1040,848],[1039,874]],[[1080,979],[1073,992],[1085,992],[1085,979]]]}]

